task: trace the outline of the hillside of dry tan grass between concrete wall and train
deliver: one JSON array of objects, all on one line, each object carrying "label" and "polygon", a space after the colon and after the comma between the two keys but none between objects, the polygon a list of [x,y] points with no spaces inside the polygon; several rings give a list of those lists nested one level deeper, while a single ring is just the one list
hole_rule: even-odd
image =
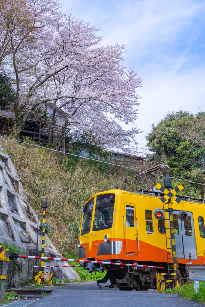
[{"label": "hillside of dry tan grass between concrete wall and train", "polygon": [[1,144],[11,155],[37,215],[42,213],[43,198],[47,198],[49,237],[64,256],[77,253],[85,202],[95,193],[111,189],[113,184],[128,189],[123,180],[133,174],[121,167],[64,156],[10,140],[1,141]]}]

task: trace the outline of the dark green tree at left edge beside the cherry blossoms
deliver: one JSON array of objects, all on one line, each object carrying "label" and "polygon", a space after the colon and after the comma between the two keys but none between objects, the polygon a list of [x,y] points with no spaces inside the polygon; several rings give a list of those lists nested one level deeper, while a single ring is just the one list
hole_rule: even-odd
[{"label": "dark green tree at left edge beside the cherry blossoms", "polygon": [[6,110],[11,102],[14,102],[15,93],[10,83],[10,78],[0,73],[0,109]]}]

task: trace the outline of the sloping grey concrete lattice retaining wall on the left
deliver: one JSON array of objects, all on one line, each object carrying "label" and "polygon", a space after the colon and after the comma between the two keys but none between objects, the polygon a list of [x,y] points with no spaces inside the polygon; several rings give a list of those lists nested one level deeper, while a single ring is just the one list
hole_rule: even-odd
[{"label": "sloping grey concrete lattice retaining wall on the left", "polygon": [[[28,203],[21,178],[10,156],[3,152],[5,151],[0,146],[0,243],[6,241],[9,245],[24,250],[25,255],[34,256],[36,255],[37,215]],[[38,250],[41,250],[41,236],[38,238]],[[61,257],[47,235],[45,235],[45,257]],[[44,265],[67,264],[63,261],[44,263]],[[58,279],[68,278],[71,281],[79,279],[71,267],[51,268],[51,271]]]}]

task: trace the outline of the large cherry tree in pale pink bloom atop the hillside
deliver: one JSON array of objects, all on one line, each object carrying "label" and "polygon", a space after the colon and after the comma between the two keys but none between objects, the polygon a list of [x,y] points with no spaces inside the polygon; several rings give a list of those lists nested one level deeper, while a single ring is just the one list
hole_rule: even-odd
[{"label": "large cherry tree in pale pink bloom atop the hillside", "polygon": [[[11,7],[10,1],[2,2]],[[23,3],[14,0],[16,5],[19,1]],[[65,133],[78,129],[92,134],[104,146],[125,148],[121,144],[127,144],[139,132],[136,127],[128,130],[122,125],[135,123],[137,88],[142,81],[123,66],[124,46],[101,46],[98,30],[63,14],[56,0],[24,1],[26,6],[22,5],[19,15],[12,15],[15,20],[22,14],[16,32],[9,23],[10,34],[7,38],[5,30],[1,41],[2,45],[6,41],[6,47],[0,49],[2,68],[16,84],[17,130],[22,129],[31,112],[41,109],[51,143],[61,111],[64,120],[59,123],[61,129],[53,146]],[[10,14],[8,9],[1,11],[0,7],[0,20]],[[23,31],[18,29],[21,23]],[[48,116],[51,103],[53,111]]]}]

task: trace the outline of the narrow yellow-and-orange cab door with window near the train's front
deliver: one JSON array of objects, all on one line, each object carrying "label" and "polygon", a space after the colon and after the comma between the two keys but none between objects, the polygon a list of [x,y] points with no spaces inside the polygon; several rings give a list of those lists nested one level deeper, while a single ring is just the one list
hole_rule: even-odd
[{"label": "narrow yellow-and-orange cab door with window near the train's front", "polygon": [[125,250],[126,254],[137,255],[137,223],[135,204],[125,203]]}]

